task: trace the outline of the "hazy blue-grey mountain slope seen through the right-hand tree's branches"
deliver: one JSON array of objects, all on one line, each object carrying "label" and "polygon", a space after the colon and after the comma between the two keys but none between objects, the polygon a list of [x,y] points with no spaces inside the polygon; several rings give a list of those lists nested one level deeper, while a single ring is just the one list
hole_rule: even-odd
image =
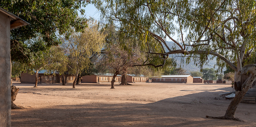
[{"label": "hazy blue-grey mountain slope seen through the right-hand tree's branches", "polygon": [[[167,44],[167,46],[169,46],[170,49],[172,49],[172,47],[173,47],[174,49],[175,49],[175,48],[179,49],[179,48],[177,47],[176,43],[174,43],[174,42],[169,42],[169,41],[167,41],[166,44]],[[164,46],[164,47],[165,47],[165,46]],[[166,47],[165,47],[165,48],[166,48]],[[187,48],[187,47],[186,47],[186,48]],[[187,49],[187,50],[189,50],[189,49]],[[165,49],[165,51],[168,51],[167,48]],[[176,59],[177,68],[181,66],[181,68],[184,68],[185,70],[187,70],[187,73],[189,73],[189,72],[191,72],[191,71],[199,71],[199,70],[200,70],[199,67],[197,67],[196,65],[194,65],[194,61],[193,61],[192,58],[190,59],[191,62],[187,65],[186,63],[181,63],[181,62],[182,62],[182,61],[181,61],[181,58],[182,58],[181,55],[178,55],[178,54],[170,54],[170,55],[169,55],[169,58],[172,58],[172,57]],[[186,61],[186,59],[184,58],[184,62],[185,62],[185,61]],[[210,61],[208,62],[208,65],[203,65],[203,68],[213,68],[214,65],[215,65],[215,63],[216,63],[216,58],[214,58],[213,60],[210,60]]]}]

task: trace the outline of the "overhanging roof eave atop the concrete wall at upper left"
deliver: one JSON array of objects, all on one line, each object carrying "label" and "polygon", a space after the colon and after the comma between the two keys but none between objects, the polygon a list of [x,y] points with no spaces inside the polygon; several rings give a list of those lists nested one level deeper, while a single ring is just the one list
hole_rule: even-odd
[{"label": "overhanging roof eave atop the concrete wall at upper left", "polygon": [[0,12],[3,12],[5,15],[8,15],[10,17],[10,29],[13,30],[18,27],[27,26],[30,25],[26,21],[20,19],[18,16],[12,14],[11,12],[8,12],[4,8],[0,7]]}]

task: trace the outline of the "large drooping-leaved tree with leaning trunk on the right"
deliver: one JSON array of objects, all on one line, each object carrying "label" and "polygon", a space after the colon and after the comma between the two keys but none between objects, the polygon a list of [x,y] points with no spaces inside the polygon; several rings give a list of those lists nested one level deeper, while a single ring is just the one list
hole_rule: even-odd
[{"label": "large drooping-leaved tree with leaning trunk on the right", "polygon": [[[102,0],[95,6],[103,18],[119,23],[126,35],[138,35],[140,45],[153,37],[165,56],[180,54],[200,67],[217,57],[219,71],[230,66],[236,84],[250,73],[231,101],[223,119],[236,119],[236,108],[256,79],[256,3],[255,0]],[[178,38],[174,38],[177,36]],[[175,46],[169,47],[165,40]]]}]

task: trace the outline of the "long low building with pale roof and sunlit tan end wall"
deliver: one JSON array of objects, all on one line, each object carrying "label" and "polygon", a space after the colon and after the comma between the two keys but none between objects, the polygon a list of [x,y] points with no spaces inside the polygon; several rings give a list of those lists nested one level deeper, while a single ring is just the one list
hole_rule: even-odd
[{"label": "long low building with pale roof and sunlit tan end wall", "polygon": [[162,78],[152,78],[152,82],[169,82],[169,83],[193,83],[191,75],[164,75]]}]

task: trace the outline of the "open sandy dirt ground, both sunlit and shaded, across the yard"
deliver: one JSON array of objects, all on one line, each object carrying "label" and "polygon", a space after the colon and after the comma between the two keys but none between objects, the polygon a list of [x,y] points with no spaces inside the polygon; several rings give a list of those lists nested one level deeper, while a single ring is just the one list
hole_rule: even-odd
[{"label": "open sandy dirt ground, both sunlit and shaded, across the yard", "polygon": [[12,127],[256,127],[256,104],[240,103],[234,120],[223,116],[230,84],[21,84]]}]

